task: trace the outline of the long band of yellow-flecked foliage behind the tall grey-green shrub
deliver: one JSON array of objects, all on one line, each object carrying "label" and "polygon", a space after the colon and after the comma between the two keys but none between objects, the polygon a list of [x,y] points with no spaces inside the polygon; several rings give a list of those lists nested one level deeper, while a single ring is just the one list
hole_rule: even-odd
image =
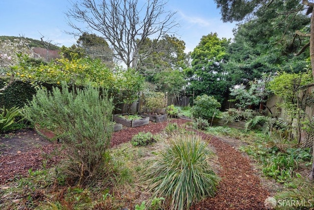
[{"label": "long band of yellow-flecked foliage behind the tall grey-green shrub", "polygon": [[27,57],[20,61],[19,65],[13,66],[11,73],[17,80],[36,83],[60,84],[65,81],[75,85],[91,83],[102,87],[109,87],[114,81],[113,73],[100,60],[90,59],[56,59],[49,64],[29,66],[26,64]]}]

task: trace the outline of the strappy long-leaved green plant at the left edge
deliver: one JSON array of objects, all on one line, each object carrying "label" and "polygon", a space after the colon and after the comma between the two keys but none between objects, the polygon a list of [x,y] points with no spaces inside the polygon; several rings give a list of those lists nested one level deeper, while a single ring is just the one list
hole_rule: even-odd
[{"label": "strappy long-leaved green plant at the left edge", "polygon": [[0,132],[2,133],[8,126],[13,123],[18,123],[23,119],[15,121],[17,117],[22,115],[22,109],[19,107],[12,107],[10,109],[0,108]]}]

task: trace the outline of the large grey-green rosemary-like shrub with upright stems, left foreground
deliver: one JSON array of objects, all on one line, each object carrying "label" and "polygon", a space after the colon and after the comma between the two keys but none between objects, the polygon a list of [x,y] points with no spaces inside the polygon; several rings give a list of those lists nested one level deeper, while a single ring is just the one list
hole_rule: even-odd
[{"label": "large grey-green rosemary-like shrub with upright stems, left foreground", "polygon": [[113,131],[112,99],[87,86],[82,90],[38,90],[24,109],[28,120],[51,129],[64,142],[68,155],[61,174],[69,180],[89,183],[110,173],[107,148]]}]

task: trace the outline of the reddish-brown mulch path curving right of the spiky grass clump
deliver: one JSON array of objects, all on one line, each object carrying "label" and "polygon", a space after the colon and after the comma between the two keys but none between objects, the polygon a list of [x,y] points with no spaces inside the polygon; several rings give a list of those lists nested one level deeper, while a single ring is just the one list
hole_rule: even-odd
[{"label": "reddish-brown mulch path curving right of the spiky grass clump", "polygon": [[218,191],[192,207],[192,210],[263,210],[269,192],[262,187],[260,178],[252,168],[250,160],[238,150],[217,137],[200,134],[215,148],[221,165]]}]

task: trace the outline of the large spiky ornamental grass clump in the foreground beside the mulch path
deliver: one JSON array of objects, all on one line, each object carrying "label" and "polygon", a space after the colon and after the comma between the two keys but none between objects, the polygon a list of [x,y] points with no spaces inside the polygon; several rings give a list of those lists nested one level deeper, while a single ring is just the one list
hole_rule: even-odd
[{"label": "large spiky ornamental grass clump in the foreground beside the mulch path", "polygon": [[176,134],[157,146],[145,169],[152,197],[164,197],[165,207],[189,209],[213,196],[219,178],[209,164],[213,151],[197,135]]}]

